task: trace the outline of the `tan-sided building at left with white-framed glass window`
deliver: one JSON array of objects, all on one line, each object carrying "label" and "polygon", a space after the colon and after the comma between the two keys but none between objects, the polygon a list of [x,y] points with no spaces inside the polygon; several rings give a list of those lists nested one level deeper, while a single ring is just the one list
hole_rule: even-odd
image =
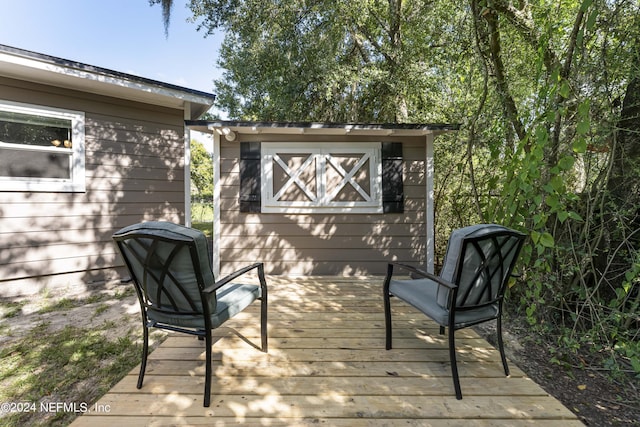
[{"label": "tan-sided building at left with white-framed glass window", "polygon": [[214,99],[0,45],[0,296],[116,277],[115,230],[185,222],[185,120]]}]

